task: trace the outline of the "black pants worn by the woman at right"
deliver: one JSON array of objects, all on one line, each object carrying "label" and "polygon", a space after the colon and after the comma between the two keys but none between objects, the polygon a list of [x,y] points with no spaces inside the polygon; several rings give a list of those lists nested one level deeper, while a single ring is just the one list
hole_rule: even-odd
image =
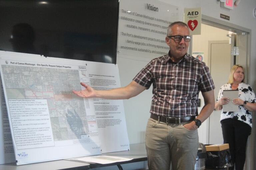
[{"label": "black pants worn by the woman at right", "polygon": [[[229,118],[221,121],[221,128],[224,143],[229,144],[231,159],[236,170],[243,170],[246,143],[251,134],[251,127],[244,122]],[[233,170],[234,167],[229,169]]]}]

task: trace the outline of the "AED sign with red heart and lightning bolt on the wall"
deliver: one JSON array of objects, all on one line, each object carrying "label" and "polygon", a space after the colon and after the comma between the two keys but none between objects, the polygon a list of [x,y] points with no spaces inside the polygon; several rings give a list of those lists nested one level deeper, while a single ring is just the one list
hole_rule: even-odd
[{"label": "AED sign with red heart and lightning bolt on the wall", "polygon": [[201,8],[185,8],[184,23],[189,27],[190,35],[201,34]]}]

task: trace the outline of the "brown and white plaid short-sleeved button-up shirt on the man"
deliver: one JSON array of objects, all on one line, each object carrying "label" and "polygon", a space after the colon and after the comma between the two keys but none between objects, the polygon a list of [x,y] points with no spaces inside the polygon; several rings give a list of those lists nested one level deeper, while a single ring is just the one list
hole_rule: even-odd
[{"label": "brown and white plaid short-sleeved button-up shirt on the man", "polygon": [[178,63],[169,53],[155,58],[133,80],[147,89],[153,83],[150,113],[165,117],[197,116],[199,91],[215,88],[209,68],[188,54]]}]

